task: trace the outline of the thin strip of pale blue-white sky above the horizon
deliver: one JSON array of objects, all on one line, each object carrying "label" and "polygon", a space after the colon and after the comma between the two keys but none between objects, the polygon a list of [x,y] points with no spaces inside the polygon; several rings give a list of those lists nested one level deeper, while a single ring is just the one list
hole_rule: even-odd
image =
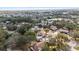
[{"label": "thin strip of pale blue-white sky above the horizon", "polygon": [[0,10],[63,10],[79,9],[79,7],[0,7]]}]

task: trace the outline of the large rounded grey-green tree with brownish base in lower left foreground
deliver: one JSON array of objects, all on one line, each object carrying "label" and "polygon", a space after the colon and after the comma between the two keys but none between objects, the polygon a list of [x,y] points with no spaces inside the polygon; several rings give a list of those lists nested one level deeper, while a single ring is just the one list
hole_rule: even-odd
[{"label": "large rounded grey-green tree with brownish base in lower left foreground", "polygon": [[28,50],[30,44],[31,41],[19,33],[12,34],[5,42],[6,50]]}]

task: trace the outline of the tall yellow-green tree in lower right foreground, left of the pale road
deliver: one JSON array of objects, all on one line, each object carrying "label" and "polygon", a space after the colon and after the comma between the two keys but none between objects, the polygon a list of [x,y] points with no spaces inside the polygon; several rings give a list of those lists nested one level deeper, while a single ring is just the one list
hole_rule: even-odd
[{"label": "tall yellow-green tree in lower right foreground, left of the pale road", "polygon": [[66,34],[59,33],[55,39],[56,39],[57,50],[64,50],[64,51],[69,50],[70,47],[66,43],[68,41],[68,36]]}]

